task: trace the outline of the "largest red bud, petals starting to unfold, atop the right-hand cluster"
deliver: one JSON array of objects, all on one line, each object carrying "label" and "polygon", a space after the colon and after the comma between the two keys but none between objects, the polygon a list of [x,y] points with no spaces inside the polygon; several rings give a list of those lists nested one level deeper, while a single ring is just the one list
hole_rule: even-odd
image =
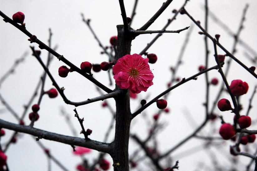
[{"label": "largest red bud, petals starting to unfold, atop the right-hand cluster", "polygon": [[231,93],[235,96],[241,96],[248,91],[248,84],[242,80],[233,80],[229,86]]}]

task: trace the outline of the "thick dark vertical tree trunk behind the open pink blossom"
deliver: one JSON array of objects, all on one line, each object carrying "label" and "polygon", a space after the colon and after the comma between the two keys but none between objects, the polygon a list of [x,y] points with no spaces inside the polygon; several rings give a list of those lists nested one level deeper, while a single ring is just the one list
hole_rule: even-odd
[{"label": "thick dark vertical tree trunk behind the open pink blossom", "polygon": [[[116,60],[130,54],[131,38],[124,35],[124,26],[118,25],[118,41]],[[116,85],[116,89],[119,86]],[[124,90],[120,97],[115,98],[116,102],[116,125],[115,125],[115,138],[111,144],[111,157],[114,162],[115,171],[128,171],[128,140],[129,129],[132,120],[129,103],[129,90]]]}]

